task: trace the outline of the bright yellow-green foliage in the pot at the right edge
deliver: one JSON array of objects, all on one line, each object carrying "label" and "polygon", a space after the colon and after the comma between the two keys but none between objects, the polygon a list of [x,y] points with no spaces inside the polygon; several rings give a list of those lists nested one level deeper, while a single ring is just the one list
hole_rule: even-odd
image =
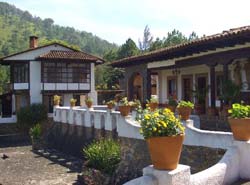
[{"label": "bright yellow-green foliage in the pot at the right edge", "polygon": [[250,105],[235,103],[232,105],[232,109],[228,110],[228,113],[232,118],[250,118]]}]

